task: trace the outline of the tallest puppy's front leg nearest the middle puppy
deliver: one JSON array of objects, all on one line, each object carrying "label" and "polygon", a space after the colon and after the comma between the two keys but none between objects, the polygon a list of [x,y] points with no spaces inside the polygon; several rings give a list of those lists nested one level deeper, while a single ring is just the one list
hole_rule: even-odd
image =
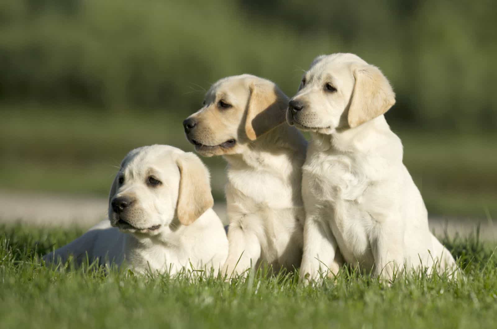
[{"label": "tallest puppy's front leg nearest the middle puppy", "polygon": [[324,275],[333,277],[342,263],[330,226],[318,217],[306,218],[300,281],[309,284],[319,281]]}]

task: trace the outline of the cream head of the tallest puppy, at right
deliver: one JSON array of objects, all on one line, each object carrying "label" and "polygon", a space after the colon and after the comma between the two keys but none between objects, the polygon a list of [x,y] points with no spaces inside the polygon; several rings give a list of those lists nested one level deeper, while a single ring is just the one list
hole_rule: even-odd
[{"label": "cream head of the tallest puppy, at right", "polygon": [[384,114],[395,93],[381,71],[353,54],[320,56],[304,74],[286,119],[301,130],[331,134]]}]

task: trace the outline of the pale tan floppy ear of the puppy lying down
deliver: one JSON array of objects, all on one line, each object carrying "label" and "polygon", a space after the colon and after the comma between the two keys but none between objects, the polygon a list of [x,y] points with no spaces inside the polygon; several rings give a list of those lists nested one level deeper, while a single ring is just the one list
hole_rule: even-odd
[{"label": "pale tan floppy ear of the puppy lying down", "polygon": [[191,152],[179,155],[176,165],[180,173],[176,214],[181,224],[190,225],[214,205],[209,170]]}]

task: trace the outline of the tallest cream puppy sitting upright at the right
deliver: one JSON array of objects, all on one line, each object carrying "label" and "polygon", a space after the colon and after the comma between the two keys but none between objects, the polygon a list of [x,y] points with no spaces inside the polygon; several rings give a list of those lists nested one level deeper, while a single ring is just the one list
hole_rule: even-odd
[{"label": "tallest cream puppy sitting upright at the right", "polygon": [[352,54],[314,60],[287,121],[310,131],[301,278],[328,270],[339,247],[352,266],[391,279],[397,269],[455,270],[430,233],[427,212],[384,113],[395,94],[381,71]]}]

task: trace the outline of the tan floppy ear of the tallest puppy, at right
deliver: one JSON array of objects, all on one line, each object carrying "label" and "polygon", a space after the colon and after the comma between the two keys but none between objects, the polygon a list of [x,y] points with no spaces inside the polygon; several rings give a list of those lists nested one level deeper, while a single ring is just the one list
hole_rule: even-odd
[{"label": "tan floppy ear of the tallest puppy, at right", "polygon": [[395,93],[380,69],[364,65],[353,69],[354,91],[348,109],[348,125],[357,127],[388,111],[395,104]]}]

